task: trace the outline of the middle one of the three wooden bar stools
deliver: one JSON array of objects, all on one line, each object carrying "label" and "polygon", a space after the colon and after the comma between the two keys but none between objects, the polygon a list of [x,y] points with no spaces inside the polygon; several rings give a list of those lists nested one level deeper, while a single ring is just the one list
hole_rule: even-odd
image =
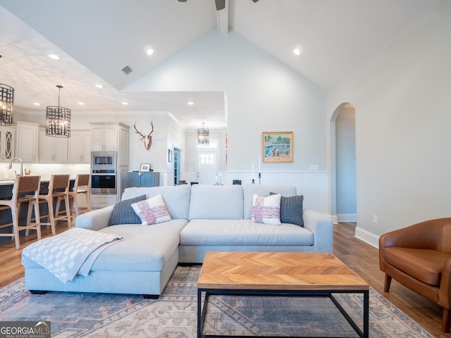
[{"label": "middle one of the three wooden bar stools", "polygon": [[[41,218],[47,217],[49,222],[42,223],[41,225],[50,225],[51,234],[55,235],[55,225],[58,220],[67,220],[68,227],[71,227],[70,223],[70,206],[69,206],[69,184],[70,175],[51,175],[49,182],[49,192],[47,195],[39,195],[39,203],[47,203],[49,213],[47,215],[41,215]],[[56,199],[56,211],[54,211],[54,199]],[[66,213],[60,215],[59,206],[61,199],[64,199],[64,206]],[[30,210],[28,211],[28,219],[31,218]]]}]

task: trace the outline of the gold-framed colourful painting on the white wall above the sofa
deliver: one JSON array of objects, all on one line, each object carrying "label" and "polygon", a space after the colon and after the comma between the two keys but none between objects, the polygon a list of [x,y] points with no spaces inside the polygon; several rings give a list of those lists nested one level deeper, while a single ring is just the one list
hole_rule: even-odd
[{"label": "gold-framed colourful painting on the white wall above the sofa", "polygon": [[263,163],[293,161],[293,132],[263,132],[261,142]]}]

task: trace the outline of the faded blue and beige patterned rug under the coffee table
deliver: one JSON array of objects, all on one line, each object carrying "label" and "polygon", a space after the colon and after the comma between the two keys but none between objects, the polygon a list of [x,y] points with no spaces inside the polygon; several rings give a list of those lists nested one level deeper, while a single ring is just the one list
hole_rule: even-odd
[{"label": "faded blue and beige patterned rug under the coffee table", "polygon": [[[200,265],[178,266],[159,299],[139,295],[30,294],[23,279],[0,289],[0,321],[50,320],[51,337],[197,337]],[[336,299],[362,325],[362,296]],[[328,298],[211,296],[204,334],[358,337]],[[370,337],[432,337],[370,290]],[[362,326],[361,326],[362,327]]]}]

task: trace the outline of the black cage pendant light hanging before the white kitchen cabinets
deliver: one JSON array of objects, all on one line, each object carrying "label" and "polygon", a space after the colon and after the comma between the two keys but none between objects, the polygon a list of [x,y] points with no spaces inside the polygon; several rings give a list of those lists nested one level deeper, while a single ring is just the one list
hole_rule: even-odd
[{"label": "black cage pendant light hanging before the white kitchen cabinets", "polygon": [[45,134],[52,137],[70,137],[70,109],[59,106],[59,94],[61,88],[58,88],[58,106],[47,106],[45,114]]}]

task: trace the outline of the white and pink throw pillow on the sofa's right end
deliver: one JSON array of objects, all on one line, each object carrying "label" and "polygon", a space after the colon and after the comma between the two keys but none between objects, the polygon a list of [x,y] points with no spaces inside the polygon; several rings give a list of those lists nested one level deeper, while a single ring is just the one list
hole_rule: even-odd
[{"label": "white and pink throw pillow on the sofa's right end", "polygon": [[252,196],[252,222],[280,225],[280,194]]}]

